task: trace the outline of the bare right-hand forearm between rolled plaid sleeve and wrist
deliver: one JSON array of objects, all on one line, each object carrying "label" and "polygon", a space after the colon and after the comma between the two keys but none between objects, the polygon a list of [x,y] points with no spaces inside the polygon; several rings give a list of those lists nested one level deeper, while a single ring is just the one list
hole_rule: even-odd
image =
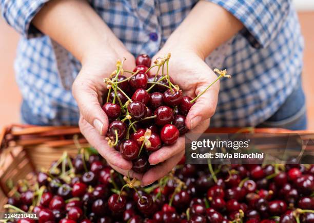
[{"label": "bare right-hand forearm between rolled plaid sleeve and wrist", "polygon": [[242,28],[242,23],[222,7],[200,1],[171,34],[165,46],[179,43],[179,48],[191,50],[204,59]]}]

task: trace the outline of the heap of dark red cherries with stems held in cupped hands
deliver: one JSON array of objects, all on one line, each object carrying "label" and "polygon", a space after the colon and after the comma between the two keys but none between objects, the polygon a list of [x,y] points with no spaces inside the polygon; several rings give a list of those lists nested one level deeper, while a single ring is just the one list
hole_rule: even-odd
[{"label": "heap of dark red cherries with stems held in cupped hands", "polygon": [[[179,86],[173,84],[168,73],[169,59],[170,53],[151,66],[149,56],[141,54],[133,71],[124,70],[123,62],[118,60],[111,78],[104,79],[108,88],[103,105],[110,121],[108,144],[131,160],[132,170],[138,173],[149,168],[147,157],[151,152],[174,144],[188,131],[185,118],[198,98],[183,96]],[[218,79],[228,76],[218,72]]]}]

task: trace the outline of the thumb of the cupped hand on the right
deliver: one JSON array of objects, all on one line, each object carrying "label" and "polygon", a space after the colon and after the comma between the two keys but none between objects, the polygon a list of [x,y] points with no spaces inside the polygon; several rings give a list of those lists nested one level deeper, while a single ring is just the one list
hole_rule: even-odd
[{"label": "thumb of the cupped hand on the right", "polygon": [[[203,83],[197,87],[195,93],[197,95],[201,94],[209,86],[209,83],[211,82]],[[195,128],[201,121],[210,118],[214,114],[218,102],[218,92],[219,83],[216,82],[197,99],[186,116],[185,124],[188,129]]]}]

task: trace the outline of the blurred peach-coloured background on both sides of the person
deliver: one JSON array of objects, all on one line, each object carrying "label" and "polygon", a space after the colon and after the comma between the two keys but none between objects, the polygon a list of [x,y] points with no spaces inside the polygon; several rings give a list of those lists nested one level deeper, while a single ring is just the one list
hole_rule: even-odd
[{"label": "blurred peach-coloured background on both sides of the person", "polygon": [[[314,1],[295,0],[305,37],[303,85],[307,96],[308,128],[314,130]],[[13,60],[18,34],[0,18],[0,128],[19,123],[21,95],[15,82]]]}]

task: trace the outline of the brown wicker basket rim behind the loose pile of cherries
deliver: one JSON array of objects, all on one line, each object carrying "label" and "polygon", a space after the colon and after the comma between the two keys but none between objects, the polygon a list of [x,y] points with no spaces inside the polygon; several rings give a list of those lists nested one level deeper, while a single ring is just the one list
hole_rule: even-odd
[{"label": "brown wicker basket rim behind the loose pile of cherries", "polygon": [[[218,128],[208,129],[207,133],[298,133],[304,139],[310,131],[289,131],[286,129],[252,129],[252,128]],[[31,178],[36,170],[48,168],[67,151],[77,153],[73,136],[78,135],[82,146],[89,146],[77,127],[38,127],[30,125],[12,125],[0,134],[0,212],[12,196],[14,189],[8,184],[16,185],[19,179]],[[314,141],[311,149],[314,150]]]}]

